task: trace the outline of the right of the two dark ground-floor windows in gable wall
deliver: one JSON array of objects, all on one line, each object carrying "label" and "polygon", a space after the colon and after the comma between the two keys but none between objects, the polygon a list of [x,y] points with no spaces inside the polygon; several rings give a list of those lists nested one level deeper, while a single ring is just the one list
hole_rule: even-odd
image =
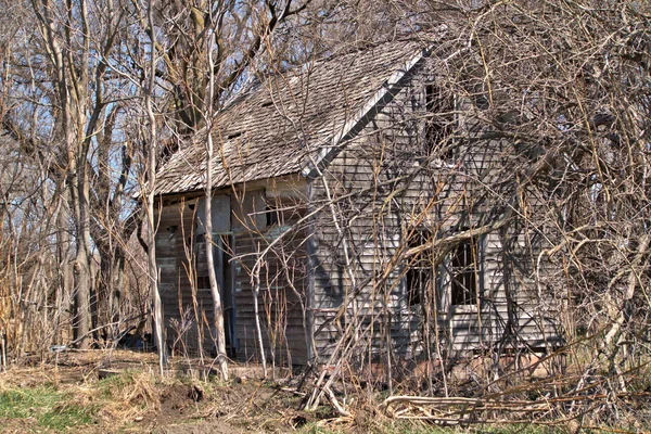
[{"label": "right of the two dark ground-floor windows in gable wall", "polygon": [[464,241],[452,252],[450,260],[452,305],[474,305],[477,299],[477,244]]}]

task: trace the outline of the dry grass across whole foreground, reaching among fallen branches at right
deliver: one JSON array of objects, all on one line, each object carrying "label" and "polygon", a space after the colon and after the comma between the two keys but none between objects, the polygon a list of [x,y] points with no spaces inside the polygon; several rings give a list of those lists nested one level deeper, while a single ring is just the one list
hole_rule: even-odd
[{"label": "dry grass across whole foreground, reaching among fallen branches at right", "polygon": [[[107,360],[111,360],[107,362]],[[98,379],[101,368],[112,368],[118,373],[103,380]],[[117,368],[117,369],[116,369]],[[649,373],[646,370],[635,372],[640,378],[637,395],[646,397],[649,387]],[[340,418],[328,406],[314,412],[299,410],[301,395],[291,387],[280,387],[278,383],[264,382],[256,378],[255,370],[238,371],[240,382],[221,383],[197,379],[196,371],[191,374],[169,373],[166,378],[157,375],[155,359],[152,355],[114,352],[111,355],[101,352],[69,354],[60,357],[58,363],[39,363],[34,367],[11,367],[0,374],[0,421],[8,432],[374,432],[374,433],[424,433],[436,426],[433,421],[399,420],[391,418],[378,404],[385,395],[349,395],[350,417]],[[194,374],[192,374],[194,373]],[[640,432],[649,426],[650,411],[636,396],[601,397],[595,394],[582,395],[583,400],[566,403],[560,394],[552,398],[552,392],[559,393],[570,383],[576,383],[576,375],[529,380],[505,386],[503,399],[540,401],[553,404],[554,414],[545,416],[539,411],[528,417],[527,424],[513,424],[518,416],[512,412],[495,413],[490,409],[477,407],[476,413],[493,418],[489,425],[467,424],[467,427],[446,429],[445,432],[500,432],[500,433],[545,433],[567,431],[577,426],[599,426],[608,429],[613,423],[592,418],[599,411],[585,414],[578,421],[572,414],[580,412],[593,404],[605,406],[620,399],[620,419],[616,432]],[[335,390],[340,390],[335,384]],[[350,386],[348,385],[348,392]],[[633,391],[631,391],[633,392]],[[355,392],[353,392],[355,393]],[[507,396],[508,395],[508,396]],[[501,398],[495,397],[495,405]],[[446,407],[446,403],[431,404],[407,403],[394,406],[394,412],[405,416],[450,413],[468,411],[462,408]],[[507,403],[509,404],[509,403]],[[513,403],[511,403],[513,404]],[[455,404],[459,407],[459,404]],[[587,407],[586,407],[587,406]],[[502,406],[503,407],[503,406]],[[628,411],[624,411],[624,410]],[[607,408],[601,408],[605,414]],[[571,417],[571,418],[569,418]],[[490,419],[488,418],[488,419]],[[567,420],[565,420],[567,418]],[[486,420],[488,420],[486,419]],[[580,425],[577,423],[580,422]],[[465,422],[463,422],[465,423]],[[545,426],[549,423],[551,426]],[[194,431],[192,431],[194,430]],[[608,430],[607,430],[608,431]],[[610,430],[611,432],[615,432]],[[441,431],[443,432],[443,431]]]}]

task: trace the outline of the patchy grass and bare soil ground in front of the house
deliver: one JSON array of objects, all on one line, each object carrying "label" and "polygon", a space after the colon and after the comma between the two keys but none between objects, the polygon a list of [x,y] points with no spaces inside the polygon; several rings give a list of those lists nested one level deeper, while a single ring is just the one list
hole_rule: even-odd
[{"label": "patchy grass and bare soil ground in front of the house", "polygon": [[[566,423],[443,429],[395,420],[375,404],[303,410],[301,375],[264,379],[259,367],[233,367],[224,382],[199,360],[176,360],[162,376],[153,354],[126,350],[35,357],[0,373],[0,432],[7,433],[467,433],[541,434],[582,431]],[[269,375],[271,376],[271,375]],[[647,395],[644,395],[646,397]],[[641,408],[644,406],[642,405]],[[419,407],[414,407],[418,409]],[[418,411],[416,414],[418,416]],[[638,412],[638,416],[641,413]],[[508,419],[507,419],[508,420]],[[599,431],[604,431],[599,429]],[[639,430],[605,430],[639,432]],[[595,431],[597,432],[597,431]]]}]

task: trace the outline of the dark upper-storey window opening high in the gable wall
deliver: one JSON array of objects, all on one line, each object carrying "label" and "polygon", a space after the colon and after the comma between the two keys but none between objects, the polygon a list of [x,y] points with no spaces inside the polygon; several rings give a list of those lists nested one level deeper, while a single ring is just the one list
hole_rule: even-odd
[{"label": "dark upper-storey window opening high in the gable wall", "polygon": [[435,85],[425,86],[425,151],[448,161],[455,157],[450,137],[455,129],[455,98]]}]

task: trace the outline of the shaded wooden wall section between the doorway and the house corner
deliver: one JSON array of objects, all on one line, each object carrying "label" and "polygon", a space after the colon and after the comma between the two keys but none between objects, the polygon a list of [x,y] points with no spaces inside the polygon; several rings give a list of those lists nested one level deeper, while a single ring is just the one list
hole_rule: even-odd
[{"label": "shaded wooden wall section between the doorway and the house corner", "polygon": [[[305,214],[305,182],[299,178],[250,186],[243,200],[233,195],[234,235],[234,304],[238,359],[259,360],[259,344],[255,324],[254,265],[282,234],[282,241],[263,257],[259,270],[258,318],[263,347],[267,358],[279,363],[307,362],[306,328],[303,310],[306,306],[305,238],[295,226]],[[268,208],[278,214],[278,222],[267,226]],[[285,233],[285,231],[288,231]]]}]

